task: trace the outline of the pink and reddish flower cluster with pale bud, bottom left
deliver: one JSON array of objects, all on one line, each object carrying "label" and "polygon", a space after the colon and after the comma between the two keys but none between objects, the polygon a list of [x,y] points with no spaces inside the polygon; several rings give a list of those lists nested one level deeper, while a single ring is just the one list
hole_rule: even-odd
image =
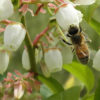
[{"label": "pink and reddish flower cluster with pale bud, bottom left", "polygon": [[[3,94],[2,98],[5,98],[5,95],[6,97],[7,95],[11,95],[9,97],[10,99],[20,99],[24,94],[30,96],[33,92],[39,92],[40,90],[40,83],[34,79],[33,73],[26,73],[24,75],[18,71],[15,71],[15,74],[8,73],[7,78],[5,78],[2,83],[4,83],[0,88],[0,90],[4,89],[3,93],[0,91],[0,93]],[[12,90],[14,90],[14,92]]]}]

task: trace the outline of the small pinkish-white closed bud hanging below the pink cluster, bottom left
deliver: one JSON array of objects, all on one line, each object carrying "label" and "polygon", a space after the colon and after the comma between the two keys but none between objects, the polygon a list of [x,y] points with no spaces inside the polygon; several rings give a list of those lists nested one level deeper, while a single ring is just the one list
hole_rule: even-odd
[{"label": "small pinkish-white closed bud hanging below the pink cluster, bottom left", "polygon": [[21,97],[24,95],[24,89],[23,89],[23,86],[22,84],[16,86],[14,88],[14,97],[16,99],[21,99]]}]

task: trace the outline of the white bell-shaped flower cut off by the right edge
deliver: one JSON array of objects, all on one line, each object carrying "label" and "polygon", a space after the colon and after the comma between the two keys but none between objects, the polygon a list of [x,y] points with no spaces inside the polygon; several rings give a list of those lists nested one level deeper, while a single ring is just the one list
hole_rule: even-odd
[{"label": "white bell-shaped flower cut off by the right edge", "polygon": [[97,51],[97,53],[93,59],[93,68],[100,71],[100,50]]}]

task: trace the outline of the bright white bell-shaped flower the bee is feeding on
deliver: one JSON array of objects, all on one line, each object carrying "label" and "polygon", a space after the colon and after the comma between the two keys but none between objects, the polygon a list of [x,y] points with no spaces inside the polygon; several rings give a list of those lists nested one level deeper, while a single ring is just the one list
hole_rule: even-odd
[{"label": "bright white bell-shaped flower the bee is feeding on", "polygon": [[68,31],[70,25],[79,27],[79,23],[83,17],[82,13],[76,10],[71,4],[61,5],[55,16],[60,27],[66,31]]}]

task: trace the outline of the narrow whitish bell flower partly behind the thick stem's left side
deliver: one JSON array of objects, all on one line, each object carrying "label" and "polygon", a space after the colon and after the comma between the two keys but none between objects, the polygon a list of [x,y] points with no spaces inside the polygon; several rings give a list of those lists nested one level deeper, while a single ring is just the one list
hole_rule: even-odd
[{"label": "narrow whitish bell flower partly behind the thick stem's left side", "polygon": [[22,54],[22,65],[23,65],[23,68],[26,70],[30,70],[31,68],[27,49],[24,49],[23,54]]}]

